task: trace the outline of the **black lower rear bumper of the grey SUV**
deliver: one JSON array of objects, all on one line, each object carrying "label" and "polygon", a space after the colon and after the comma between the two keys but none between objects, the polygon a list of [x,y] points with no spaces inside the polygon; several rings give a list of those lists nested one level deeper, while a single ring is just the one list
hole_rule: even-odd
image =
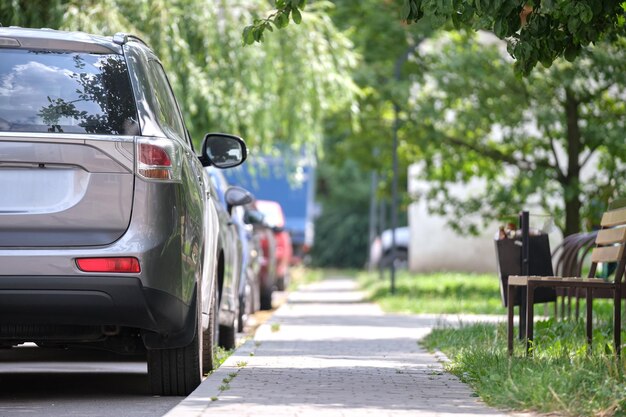
[{"label": "black lower rear bumper of the grey SUV", "polygon": [[186,333],[193,308],[136,277],[0,276],[0,324],[132,327],[167,339]]}]

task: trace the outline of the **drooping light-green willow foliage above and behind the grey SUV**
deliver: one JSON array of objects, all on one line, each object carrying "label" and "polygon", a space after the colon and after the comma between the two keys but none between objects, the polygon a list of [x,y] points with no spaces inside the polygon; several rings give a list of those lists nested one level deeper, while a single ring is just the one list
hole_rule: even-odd
[{"label": "drooping light-green willow foliage above and behind the grey SUV", "polygon": [[307,12],[308,35],[298,42],[283,31],[261,47],[243,48],[240,22],[265,7],[265,0],[13,1],[0,6],[0,21],[141,36],[171,76],[196,143],[218,130],[264,151],[276,142],[316,146],[323,118],[351,104],[357,57],[323,5]]}]

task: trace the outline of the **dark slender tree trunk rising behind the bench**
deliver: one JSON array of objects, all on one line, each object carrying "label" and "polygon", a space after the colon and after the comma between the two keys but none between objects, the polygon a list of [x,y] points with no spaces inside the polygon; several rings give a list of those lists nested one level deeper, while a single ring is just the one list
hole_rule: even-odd
[{"label": "dark slender tree trunk rising behind the bench", "polygon": [[567,122],[567,175],[563,182],[565,203],[565,236],[580,232],[580,153],[582,138],[578,124],[579,102],[569,88],[565,89],[565,115]]}]

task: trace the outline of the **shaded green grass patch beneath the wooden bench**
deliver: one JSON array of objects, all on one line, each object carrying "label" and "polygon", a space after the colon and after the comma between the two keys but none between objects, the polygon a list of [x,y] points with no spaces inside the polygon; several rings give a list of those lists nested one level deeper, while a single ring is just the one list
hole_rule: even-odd
[{"label": "shaded green grass patch beneath the wooden bench", "polygon": [[624,360],[611,351],[610,313],[597,317],[594,350],[587,354],[584,322],[538,322],[533,357],[506,352],[506,325],[435,329],[422,343],[443,351],[448,371],[469,383],[488,404],[566,416],[626,413]]}]

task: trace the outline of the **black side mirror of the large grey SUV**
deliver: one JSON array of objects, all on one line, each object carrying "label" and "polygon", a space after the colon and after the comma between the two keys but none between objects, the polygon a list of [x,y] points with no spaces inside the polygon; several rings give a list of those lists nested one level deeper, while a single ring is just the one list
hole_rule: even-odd
[{"label": "black side mirror of the large grey SUV", "polygon": [[246,143],[239,136],[207,133],[202,142],[202,165],[232,168],[241,165],[248,156]]}]

